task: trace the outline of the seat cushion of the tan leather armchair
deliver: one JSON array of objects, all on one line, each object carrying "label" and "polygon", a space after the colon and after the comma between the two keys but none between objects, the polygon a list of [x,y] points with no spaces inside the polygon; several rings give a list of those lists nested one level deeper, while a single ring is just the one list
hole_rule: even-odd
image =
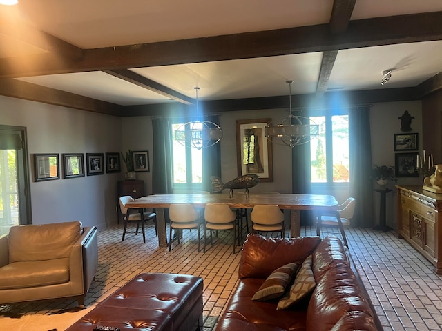
[{"label": "seat cushion of the tan leather armchair", "polygon": [[15,262],[0,268],[0,290],[32,288],[68,281],[68,258]]}]

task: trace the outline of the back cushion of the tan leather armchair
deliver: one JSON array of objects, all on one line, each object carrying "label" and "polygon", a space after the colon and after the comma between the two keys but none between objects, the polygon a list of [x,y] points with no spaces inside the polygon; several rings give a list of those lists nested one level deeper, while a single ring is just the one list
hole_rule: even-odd
[{"label": "back cushion of the tan leather armchair", "polygon": [[17,225],[9,230],[9,263],[69,257],[81,235],[81,223]]}]

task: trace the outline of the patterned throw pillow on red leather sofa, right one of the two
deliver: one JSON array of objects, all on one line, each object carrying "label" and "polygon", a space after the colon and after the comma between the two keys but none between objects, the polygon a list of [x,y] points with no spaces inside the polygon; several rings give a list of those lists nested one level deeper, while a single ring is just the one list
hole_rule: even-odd
[{"label": "patterned throw pillow on red leather sofa, right one of the two", "polygon": [[316,281],[311,270],[313,259],[309,255],[302,263],[301,268],[296,275],[294,284],[291,285],[290,292],[278,302],[277,310],[289,308],[291,305],[307,296],[316,287]]}]

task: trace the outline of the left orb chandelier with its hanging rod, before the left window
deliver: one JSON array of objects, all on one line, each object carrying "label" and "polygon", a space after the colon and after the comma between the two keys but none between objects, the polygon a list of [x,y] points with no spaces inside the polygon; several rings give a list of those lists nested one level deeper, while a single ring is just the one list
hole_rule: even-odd
[{"label": "left orb chandelier with its hanging rod, before the left window", "polygon": [[211,121],[199,120],[201,115],[198,112],[198,90],[200,90],[200,88],[197,86],[194,89],[196,94],[195,110],[197,120],[184,123],[180,128],[175,130],[175,141],[182,146],[200,150],[218,143],[222,139],[222,129],[218,124]]}]

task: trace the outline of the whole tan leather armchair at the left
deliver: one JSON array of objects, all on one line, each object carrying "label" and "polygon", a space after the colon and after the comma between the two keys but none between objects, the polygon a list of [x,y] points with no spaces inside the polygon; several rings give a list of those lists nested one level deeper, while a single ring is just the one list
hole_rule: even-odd
[{"label": "whole tan leather armchair at the left", "polygon": [[73,297],[83,306],[97,268],[95,226],[13,226],[0,238],[0,304]]}]

